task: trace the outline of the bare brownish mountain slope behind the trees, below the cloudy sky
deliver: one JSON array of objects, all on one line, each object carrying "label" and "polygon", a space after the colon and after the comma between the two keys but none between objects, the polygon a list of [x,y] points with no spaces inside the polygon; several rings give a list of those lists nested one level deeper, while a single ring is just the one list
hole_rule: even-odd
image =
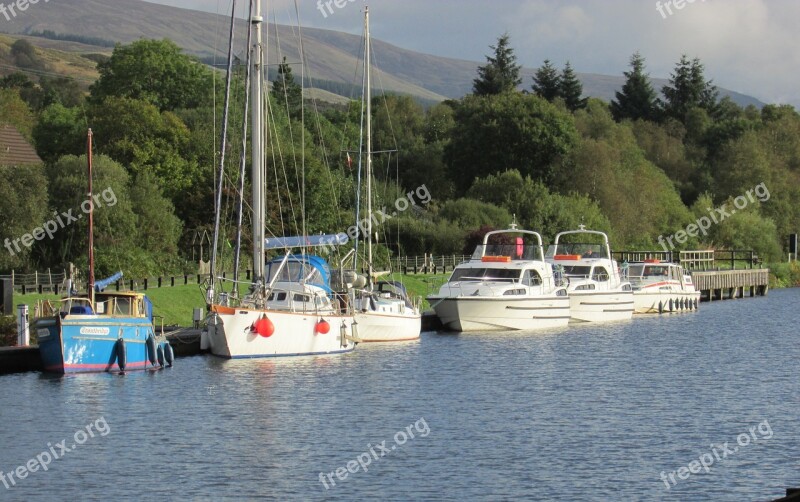
[{"label": "bare brownish mountain slope behind the trees, below the cloudy sky", "polygon": [[[244,21],[238,33],[239,47],[244,37]],[[141,0],[71,0],[67,2],[40,3],[31,6],[24,15],[13,22],[0,25],[6,33],[31,34],[54,32],[61,35],[79,35],[87,40],[129,43],[140,38],[170,38],[184,50],[204,60],[224,59],[227,46],[229,22],[223,16],[205,12],[178,9]],[[297,29],[278,25],[278,36],[269,27],[270,61],[280,55],[289,61],[299,61]],[[303,42],[309,61],[308,75],[327,91],[358,96],[356,68],[362,52],[361,38],[342,32],[303,28]],[[35,43],[35,42],[34,42]],[[60,45],[59,45],[60,44]],[[48,47],[64,51],[87,51],[87,45],[70,41],[50,41]],[[107,47],[94,47],[94,52],[108,52]],[[374,72],[375,86],[390,92],[408,94],[423,102],[460,98],[472,90],[478,65],[475,61],[444,58],[402,49],[391,44],[373,40],[374,61],[380,71]],[[534,69],[524,68],[523,86],[530,88]],[[8,73],[0,68],[0,74]],[[614,97],[623,82],[622,75],[598,75],[578,73],[584,93],[606,101]],[[665,79],[653,79],[660,89]],[[344,86],[336,84],[345,84]],[[337,91],[338,89],[338,91]],[[345,91],[342,91],[345,89]],[[349,95],[347,95],[349,91]],[[763,106],[758,99],[720,88],[720,95],[730,96],[736,103],[747,106]]]}]

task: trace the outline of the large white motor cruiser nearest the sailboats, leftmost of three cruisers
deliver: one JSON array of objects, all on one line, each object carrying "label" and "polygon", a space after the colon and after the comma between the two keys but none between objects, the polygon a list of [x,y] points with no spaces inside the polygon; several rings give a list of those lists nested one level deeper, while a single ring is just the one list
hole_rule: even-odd
[{"label": "large white motor cruiser nearest the sailboats, leftmost of three cruisers", "polygon": [[533,330],[569,323],[567,288],[544,261],[542,236],[515,226],[488,232],[472,258],[428,297],[446,328]]}]

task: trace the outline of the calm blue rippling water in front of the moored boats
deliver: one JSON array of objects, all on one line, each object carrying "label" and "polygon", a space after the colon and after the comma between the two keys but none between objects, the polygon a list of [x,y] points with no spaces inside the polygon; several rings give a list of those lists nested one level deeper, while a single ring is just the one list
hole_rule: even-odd
[{"label": "calm blue rippling water in front of the moored boats", "polygon": [[[61,456],[0,484],[0,500],[777,498],[800,486],[798,300],[424,333],[336,357],[0,377],[6,478]],[[94,437],[78,432],[90,424]],[[725,442],[738,450],[724,457]],[[704,454],[710,472],[691,473]]]}]

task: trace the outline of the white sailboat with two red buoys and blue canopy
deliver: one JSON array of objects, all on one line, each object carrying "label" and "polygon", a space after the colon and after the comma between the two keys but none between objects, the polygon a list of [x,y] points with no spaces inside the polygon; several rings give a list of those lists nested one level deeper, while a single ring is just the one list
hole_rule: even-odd
[{"label": "white sailboat with two red buoys and blue canopy", "polygon": [[[223,358],[260,358],[340,354],[352,351],[357,342],[352,306],[343,281],[333,281],[328,263],[306,254],[314,247],[341,245],[345,234],[265,238],[265,190],[263,180],[264,127],[261,1],[250,13],[250,99],[252,124],[253,185],[253,276],[249,293],[242,299],[216,290],[216,260],[212,258],[211,280],[206,291],[207,324],[201,345]],[[233,30],[233,22],[231,23]],[[231,31],[231,37],[233,31]],[[232,43],[231,43],[232,45]],[[229,50],[229,75],[230,75]],[[229,94],[229,93],[228,93]],[[227,102],[227,100],[226,100]],[[225,144],[223,133],[223,145]],[[224,159],[223,159],[224,160]],[[223,161],[220,161],[220,166]],[[222,177],[219,178],[220,182]],[[240,185],[241,186],[241,185]],[[220,193],[217,190],[214,253],[219,237]],[[241,229],[241,218],[238,224]],[[237,250],[239,243],[237,242]],[[299,254],[293,249],[300,248]],[[282,256],[266,262],[268,250],[283,250]],[[338,282],[338,284],[337,284]],[[336,290],[334,290],[336,288]]]}]

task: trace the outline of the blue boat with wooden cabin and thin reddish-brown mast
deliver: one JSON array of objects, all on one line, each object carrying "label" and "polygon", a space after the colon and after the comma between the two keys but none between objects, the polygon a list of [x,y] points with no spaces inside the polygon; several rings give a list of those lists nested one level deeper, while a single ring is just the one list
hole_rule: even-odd
[{"label": "blue boat with wooden cabin and thin reddish-brown mast", "polygon": [[[88,132],[89,199],[92,197],[92,130]],[[86,373],[172,366],[174,353],[153,325],[153,304],[144,293],[103,292],[122,277],[94,280],[94,218],[89,210],[89,277],[86,294],[72,291],[60,305],[37,306],[33,329],[45,371]]]}]

